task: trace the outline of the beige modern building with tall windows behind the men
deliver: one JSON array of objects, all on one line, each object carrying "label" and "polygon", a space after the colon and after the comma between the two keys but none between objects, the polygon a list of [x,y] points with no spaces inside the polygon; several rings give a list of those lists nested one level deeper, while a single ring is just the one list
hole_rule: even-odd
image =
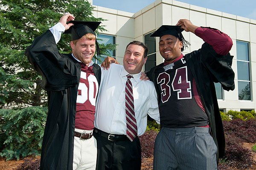
[{"label": "beige modern building with tall windows behind the men", "polygon": [[[224,112],[256,109],[256,20],[176,0],[156,0],[135,14],[95,6],[93,15],[106,19],[102,25],[108,31],[100,32],[99,37],[105,43],[118,44],[111,55],[119,63],[122,63],[129,42],[139,40],[149,47],[144,70],[163,62],[158,49],[159,38],[150,37],[160,26],[175,25],[179,19],[189,19],[196,26],[221,30],[233,40],[230,53],[234,56],[232,68],[236,88],[227,92],[220,84],[215,84],[219,108]],[[201,48],[201,38],[189,32],[183,32],[183,36],[191,43],[183,54]]]}]

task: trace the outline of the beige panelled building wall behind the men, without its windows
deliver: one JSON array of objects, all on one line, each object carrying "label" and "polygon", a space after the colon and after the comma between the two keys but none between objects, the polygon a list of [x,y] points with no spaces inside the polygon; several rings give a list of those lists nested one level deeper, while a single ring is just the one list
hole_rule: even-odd
[{"label": "beige panelled building wall behind the men, without its windows", "polygon": [[[95,7],[95,17],[107,19],[102,24],[106,26],[108,32],[102,33],[116,36],[116,44],[118,44],[116,58],[119,63],[122,63],[125,47],[129,42],[132,40],[144,42],[144,35],[154,32],[162,25],[175,25],[179,19],[189,19],[196,26],[212,27],[226,33],[233,40],[230,54],[234,55],[232,68],[235,72],[236,88],[233,91],[223,92],[223,100],[218,100],[219,107],[224,111],[256,109],[256,20],[176,0],[156,0],[135,14],[100,6]],[[184,31],[183,36],[191,43],[189,49],[185,49],[183,54],[200,49],[204,43],[201,38],[191,32]],[[251,101],[239,101],[238,99],[236,40],[250,44]],[[158,50],[158,41],[159,38],[156,38],[156,63],[160,64],[163,62],[163,58]]]}]

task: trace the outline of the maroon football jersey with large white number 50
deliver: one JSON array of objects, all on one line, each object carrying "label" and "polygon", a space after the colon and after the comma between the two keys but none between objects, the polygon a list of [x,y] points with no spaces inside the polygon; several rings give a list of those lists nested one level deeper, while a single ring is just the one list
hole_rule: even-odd
[{"label": "maroon football jersey with large white number 50", "polygon": [[76,99],[75,128],[93,130],[96,96],[98,94],[98,81],[94,76],[93,66],[82,66],[80,82]]}]

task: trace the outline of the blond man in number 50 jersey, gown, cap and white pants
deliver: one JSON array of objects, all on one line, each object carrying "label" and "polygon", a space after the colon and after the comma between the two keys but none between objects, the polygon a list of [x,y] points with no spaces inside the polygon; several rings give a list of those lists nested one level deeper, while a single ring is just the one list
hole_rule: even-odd
[{"label": "blond man in number 50 jersey, gown, cap and white pants", "polygon": [[[41,86],[48,95],[41,170],[96,168],[93,128],[101,69],[91,60],[96,46],[99,55],[94,33],[99,24],[74,21],[72,14],[65,14],[26,49],[29,62],[42,75]],[[56,43],[62,32],[71,34],[72,54],[58,52]]]}]

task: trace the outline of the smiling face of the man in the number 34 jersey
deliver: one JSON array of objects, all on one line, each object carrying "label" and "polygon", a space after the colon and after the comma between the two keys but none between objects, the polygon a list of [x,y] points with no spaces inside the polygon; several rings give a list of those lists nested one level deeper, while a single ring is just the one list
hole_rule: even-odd
[{"label": "smiling face of the man in the number 34 jersey", "polygon": [[167,63],[172,63],[181,55],[182,41],[173,35],[163,35],[159,41],[159,51]]}]

